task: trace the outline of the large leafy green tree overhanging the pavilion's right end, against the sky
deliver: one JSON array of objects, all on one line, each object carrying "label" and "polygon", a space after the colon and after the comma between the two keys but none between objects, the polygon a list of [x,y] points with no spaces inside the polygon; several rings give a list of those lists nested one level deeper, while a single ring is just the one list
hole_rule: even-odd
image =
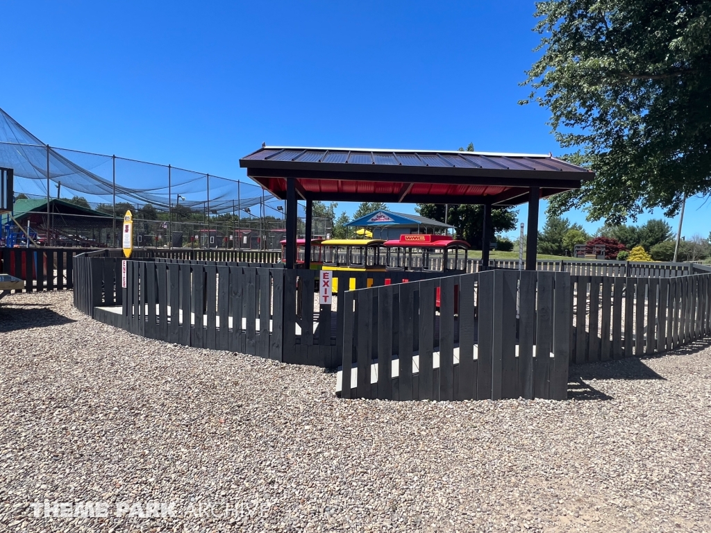
[{"label": "large leafy green tree overhanging the pavilion's right end, against the sky", "polygon": [[551,112],[567,158],[597,173],[550,199],[621,224],[711,193],[711,1],[547,0],[529,99]]}]

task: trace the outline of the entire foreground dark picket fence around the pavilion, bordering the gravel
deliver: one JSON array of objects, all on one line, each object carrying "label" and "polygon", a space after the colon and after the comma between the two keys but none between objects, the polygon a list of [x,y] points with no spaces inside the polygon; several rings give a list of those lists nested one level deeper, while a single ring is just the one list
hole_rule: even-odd
[{"label": "entire foreground dark picket fence around the pavilion, bordering the gravel", "polygon": [[657,274],[675,270],[631,277],[496,269],[444,278],[333,271],[338,294],[324,306],[314,296],[315,270],[164,258],[126,264],[124,289],[122,259],[74,257],[75,306],[171,343],[341,365],[339,382],[351,384],[343,397],[559,399],[569,364],[650,355],[711,334],[711,269],[697,265],[668,277]]}]

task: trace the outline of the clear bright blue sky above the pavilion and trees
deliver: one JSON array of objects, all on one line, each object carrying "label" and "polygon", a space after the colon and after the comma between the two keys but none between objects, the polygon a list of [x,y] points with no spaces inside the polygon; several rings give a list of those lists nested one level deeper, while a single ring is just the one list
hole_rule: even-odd
[{"label": "clear bright blue sky above the pavilion and trees", "polygon": [[[8,0],[0,107],[53,146],[227,178],[246,179],[238,160],[262,141],[562,154],[547,111],[517,104],[536,57],[533,10],[528,0]],[[684,235],[708,235],[702,203],[688,203]]]}]

